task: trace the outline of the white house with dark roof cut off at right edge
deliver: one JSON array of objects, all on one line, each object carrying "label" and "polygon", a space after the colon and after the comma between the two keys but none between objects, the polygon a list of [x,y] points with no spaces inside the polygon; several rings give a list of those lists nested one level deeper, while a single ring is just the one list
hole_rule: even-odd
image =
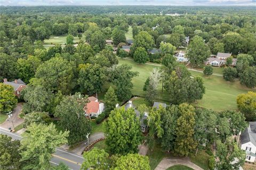
[{"label": "white house with dark roof cut off at right edge", "polygon": [[246,161],[254,163],[256,158],[256,122],[249,122],[249,126],[240,135],[241,149],[246,152]]}]

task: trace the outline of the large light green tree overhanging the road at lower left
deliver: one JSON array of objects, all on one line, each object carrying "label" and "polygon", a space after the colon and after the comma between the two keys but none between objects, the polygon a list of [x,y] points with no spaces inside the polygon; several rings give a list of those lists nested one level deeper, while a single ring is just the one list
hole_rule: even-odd
[{"label": "large light green tree overhanging the road at lower left", "polygon": [[51,154],[59,144],[67,142],[69,132],[58,132],[55,125],[30,124],[22,133],[21,161],[25,162],[23,169],[49,169]]}]

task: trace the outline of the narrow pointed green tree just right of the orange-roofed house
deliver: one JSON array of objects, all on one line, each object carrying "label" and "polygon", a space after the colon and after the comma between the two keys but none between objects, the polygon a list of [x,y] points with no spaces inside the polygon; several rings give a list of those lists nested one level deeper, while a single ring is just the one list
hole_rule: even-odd
[{"label": "narrow pointed green tree just right of the orange-roofed house", "polygon": [[106,116],[108,116],[111,110],[116,108],[116,104],[118,103],[117,96],[113,87],[109,87],[107,93],[104,96],[105,99],[105,112]]}]

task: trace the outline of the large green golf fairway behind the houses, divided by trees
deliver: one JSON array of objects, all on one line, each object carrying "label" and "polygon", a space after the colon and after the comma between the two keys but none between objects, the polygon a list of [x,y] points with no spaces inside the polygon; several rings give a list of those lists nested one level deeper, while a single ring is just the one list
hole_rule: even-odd
[{"label": "large green golf fairway behind the houses, divided by trees", "polygon": [[[159,68],[159,66],[152,66],[149,64],[138,64],[132,60],[119,59],[119,64],[131,64],[133,71],[138,71],[139,76],[133,78],[133,95],[145,96],[145,92],[142,90],[143,85],[153,68]],[[204,80],[204,85],[206,87],[206,92],[202,100],[198,100],[193,103],[195,106],[204,107],[216,111],[221,110],[236,110],[236,96],[241,93],[247,93],[247,91],[252,91],[252,89],[242,86],[239,81],[226,82],[221,76],[210,76],[205,77],[203,73],[190,71],[192,76],[202,77]],[[162,86],[159,85],[159,97],[156,100],[159,101],[169,101],[169,95],[161,91]],[[255,91],[255,90],[254,90]]]}]

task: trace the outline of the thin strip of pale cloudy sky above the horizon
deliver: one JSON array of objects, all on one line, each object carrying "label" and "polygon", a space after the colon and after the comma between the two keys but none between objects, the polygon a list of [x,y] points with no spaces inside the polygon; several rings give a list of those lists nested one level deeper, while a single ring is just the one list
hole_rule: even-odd
[{"label": "thin strip of pale cloudy sky above the horizon", "polygon": [[170,5],[170,6],[255,6],[256,0],[0,0],[0,5]]}]

